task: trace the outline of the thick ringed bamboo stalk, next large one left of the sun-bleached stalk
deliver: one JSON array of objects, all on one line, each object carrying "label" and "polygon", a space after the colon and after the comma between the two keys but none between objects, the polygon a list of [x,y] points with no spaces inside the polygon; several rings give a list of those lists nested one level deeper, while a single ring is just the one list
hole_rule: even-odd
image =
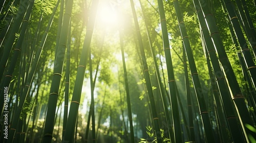
[{"label": "thick ringed bamboo stalk, next large one left of the sun-bleached stalk", "polygon": [[66,53],[66,45],[68,39],[68,32],[69,32],[69,25],[71,20],[71,12],[72,12],[73,0],[68,0],[67,7],[65,14],[63,16],[63,25],[61,31],[61,37],[58,46],[57,58],[54,64],[53,69],[53,77],[52,77],[52,84],[50,88],[49,100],[48,100],[48,109],[46,114],[46,122],[45,122],[45,130],[44,130],[44,137],[42,142],[51,142],[52,141],[52,134],[54,128],[54,117],[56,111],[56,105],[58,100],[59,94],[59,85],[62,76],[62,68],[63,62]]}]

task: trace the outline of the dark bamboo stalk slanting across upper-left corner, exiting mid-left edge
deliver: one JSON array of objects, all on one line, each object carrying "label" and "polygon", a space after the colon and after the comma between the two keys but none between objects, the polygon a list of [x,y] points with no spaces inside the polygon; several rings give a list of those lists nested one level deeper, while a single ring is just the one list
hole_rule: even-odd
[{"label": "dark bamboo stalk slanting across upper-left corner, exiting mid-left edge", "polygon": [[[29,0],[26,1],[20,1],[19,4],[19,8],[18,8],[18,12],[17,15],[15,17],[14,20],[14,25],[12,26],[10,35],[8,37],[8,41],[5,43],[4,47],[4,53],[3,53],[3,57],[0,60],[0,81],[2,80],[6,65],[7,65],[7,61],[8,58],[10,56],[11,50],[12,50],[12,46],[13,46],[13,42],[16,38],[16,33],[18,33],[18,30],[22,24],[25,12],[27,11],[28,7],[29,7]],[[30,11],[31,12],[31,11]]]}]

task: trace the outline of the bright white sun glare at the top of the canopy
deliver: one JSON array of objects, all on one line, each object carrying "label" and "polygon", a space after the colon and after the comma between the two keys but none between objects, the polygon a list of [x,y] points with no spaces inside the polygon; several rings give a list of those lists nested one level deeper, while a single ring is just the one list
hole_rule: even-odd
[{"label": "bright white sun glare at the top of the canopy", "polygon": [[99,4],[97,17],[100,26],[116,27],[118,26],[117,3],[104,1]]}]

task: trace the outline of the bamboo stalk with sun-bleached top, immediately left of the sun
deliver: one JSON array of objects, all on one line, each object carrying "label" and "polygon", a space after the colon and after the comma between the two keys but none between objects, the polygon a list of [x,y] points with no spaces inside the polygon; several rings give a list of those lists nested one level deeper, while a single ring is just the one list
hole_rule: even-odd
[{"label": "bamboo stalk with sun-bleached top, immediately left of the sun", "polygon": [[[89,51],[90,51],[90,44],[92,40],[92,34],[94,29],[94,23],[96,18],[96,12],[98,7],[98,0],[92,2],[91,7],[91,15],[87,26],[87,33],[86,38],[84,38],[82,53],[80,56],[80,62],[77,69],[77,75],[76,75],[76,81],[73,91],[73,97],[70,104],[70,112],[68,116],[67,121],[67,128],[65,133],[65,138],[63,138],[63,141],[72,142],[73,136],[74,136],[74,128],[75,128],[75,120],[78,113],[78,108],[80,104],[80,98],[81,98],[81,90],[82,90],[82,84],[83,84],[83,78],[86,71],[86,65],[89,57]],[[65,21],[65,20],[64,20]]]}]

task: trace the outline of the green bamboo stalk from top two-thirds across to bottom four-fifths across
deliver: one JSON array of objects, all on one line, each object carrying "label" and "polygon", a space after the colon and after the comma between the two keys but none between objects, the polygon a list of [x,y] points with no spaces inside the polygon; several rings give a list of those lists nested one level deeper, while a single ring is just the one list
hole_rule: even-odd
[{"label": "green bamboo stalk from top two-thirds across to bottom four-fifths across", "polygon": [[212,131],[211,124],[210,124],[210,118],[208,115],[207,107],[205,105],[204,94],[202,91],[202,87],[201,87],[198,72],[197,72],[197,67],[196,67],[193,53],[192,53],[190,43],[188,40],[188,35],[187,35],[185,24],[183,21],[183,15],[181,13],[179,2],[177,0],[174,1],[174,7],[176,10],[180,33],[181,33],[181,37],[183,39],[183,45],[185,47],[187,60],[188,60],[189,67],[190,67],[191,77],[192,77],[194,88],[196,91],[196,96],[197,96],[197,100],[198,100],[198,105],[199,105],[199,110],[200,110],[203,126],[204,126],[204,129],[206,129],[205,130],[206,140],[207,140],[207,142],[215,142],[214,133]]}]

